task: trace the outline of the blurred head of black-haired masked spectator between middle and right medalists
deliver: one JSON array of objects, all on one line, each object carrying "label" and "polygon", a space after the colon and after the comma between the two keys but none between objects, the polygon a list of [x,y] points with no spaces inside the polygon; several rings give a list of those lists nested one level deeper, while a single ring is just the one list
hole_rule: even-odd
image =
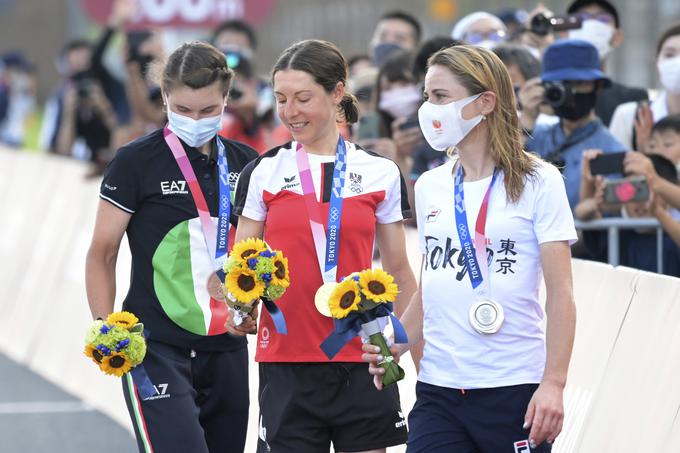
[{"label": "blurred head of black-haired masked spectator between middle and right medalists", "polygon": [[369,55],[376,67],[382,66],[396,50],[415,53],[420,43],[421,26],[418,19],[404,11],[383,14],[373,31]]}]

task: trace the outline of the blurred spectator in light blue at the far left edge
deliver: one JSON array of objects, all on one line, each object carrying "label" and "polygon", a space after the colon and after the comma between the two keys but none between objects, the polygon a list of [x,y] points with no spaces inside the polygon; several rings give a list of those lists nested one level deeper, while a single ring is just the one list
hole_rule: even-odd
[{"label": "blurred spectator in light blue at the far left edge", "polygon": [[35,109],[35,66],[18,51],[5,54],[0,66],[0,143],[21,147]]}]

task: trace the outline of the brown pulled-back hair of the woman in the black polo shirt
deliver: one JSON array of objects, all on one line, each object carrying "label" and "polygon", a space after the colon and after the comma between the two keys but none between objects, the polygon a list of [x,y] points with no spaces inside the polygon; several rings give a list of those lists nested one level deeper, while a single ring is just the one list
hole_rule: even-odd
[{"label": "brown pulled-back hair of the woman in the black polo shirt", "polygon": [[219,82],[225,97],[229,95],[234,77],[234,72],[227,66],[224,54],[201,41],[182,44],[168,57],[162,67],[156,68],[155,73],[155,78],[165,93],[169,93],[177,86],[197,90]]}]

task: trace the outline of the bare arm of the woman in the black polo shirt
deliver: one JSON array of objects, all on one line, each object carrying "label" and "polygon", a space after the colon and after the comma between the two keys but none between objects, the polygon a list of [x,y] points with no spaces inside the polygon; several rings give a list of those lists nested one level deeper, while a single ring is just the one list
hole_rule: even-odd
[{"label": "bare arm of the woman in the black polo shirt", "polygon": [[116,298],[116,261],[132,214],[99,200],[97,220],[85,264],[87,301],[93,318],[105,318]]}]

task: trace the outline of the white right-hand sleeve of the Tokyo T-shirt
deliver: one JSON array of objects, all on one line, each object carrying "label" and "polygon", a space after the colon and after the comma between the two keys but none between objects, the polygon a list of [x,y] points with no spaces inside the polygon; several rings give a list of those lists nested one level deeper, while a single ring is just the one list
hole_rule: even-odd
[{"label": "white right-hand sleeve of the Tokyo T-shirt", "polygon": [[577,237],[564,179],[552,165],[539,165],[541,167],[533,187],[534,234],[539,244],[569,241],[571,245]]}]

